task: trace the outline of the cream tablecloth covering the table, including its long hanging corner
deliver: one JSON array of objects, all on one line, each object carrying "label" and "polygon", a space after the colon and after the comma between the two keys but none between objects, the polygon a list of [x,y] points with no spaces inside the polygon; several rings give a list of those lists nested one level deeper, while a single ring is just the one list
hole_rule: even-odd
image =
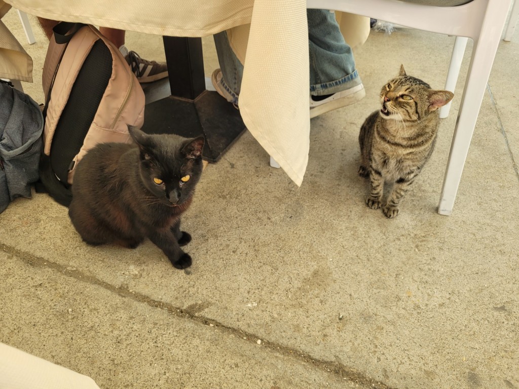
[{"label": "cream tablecloth covering the table, including its long hanging corner", "polygon": [[[243,34],[247,27],[239,26],[250,24],[247,44],[234,41],[238,58],[244,60],[241,116],[252,135],[289,177],[297,185],[303,182],[310,131],[305,0],[162,1],[156,5],[120,0],[7,0],[7,3],[48,19],[157,35],[202,37],[233,27],[238,27],[233,30],[237,34],[240,29]],[[357,41],[367,37],[366,19],[361,39]],[[353,41],[350,44],[356,45]]]}]

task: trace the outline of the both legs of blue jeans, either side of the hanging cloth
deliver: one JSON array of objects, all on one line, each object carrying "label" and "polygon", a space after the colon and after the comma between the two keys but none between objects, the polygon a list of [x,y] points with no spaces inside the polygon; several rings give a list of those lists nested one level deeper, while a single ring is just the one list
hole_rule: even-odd
[{"label": "both legs of blue jeans, either side of the hanging cloth", "polygon": [[[340,33],[335,14],[325,9],[307,9],[310,94],[333,94],[361,84],[351,48]],[[243,65],[229,45],[227,32],[214,35],[223,78],[220,87],[238,103]],[[228,99],[228,100],[229,100]]]}]

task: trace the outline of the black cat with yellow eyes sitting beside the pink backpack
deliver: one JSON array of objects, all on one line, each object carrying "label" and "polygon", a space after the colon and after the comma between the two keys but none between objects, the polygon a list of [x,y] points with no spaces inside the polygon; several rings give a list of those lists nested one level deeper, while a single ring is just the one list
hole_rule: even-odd
[{"label": "black cat with yellow eyes sitting beside the pink backpack", "polygon": [[128,126],[136,145],[101,143],[79,162],[69,216],[91,245],[137,247],[145,238],[184,269],[190,242],[180,217],[193,200],[202,172],[203,137],[148,135]]}]

